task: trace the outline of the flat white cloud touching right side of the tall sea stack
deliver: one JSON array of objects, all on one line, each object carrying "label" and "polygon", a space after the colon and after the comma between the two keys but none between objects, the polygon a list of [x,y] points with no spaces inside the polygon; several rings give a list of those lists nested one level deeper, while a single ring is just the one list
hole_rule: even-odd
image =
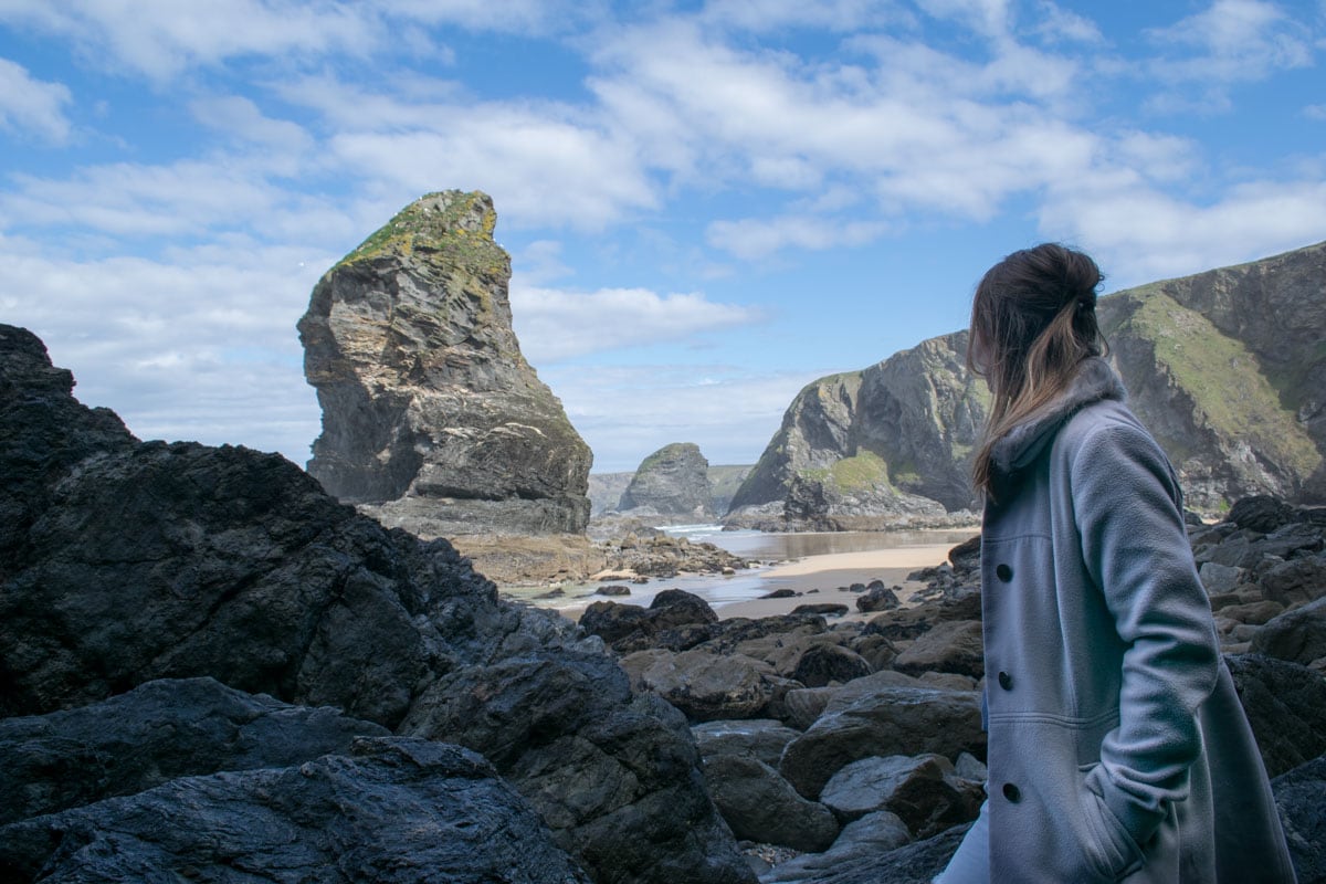
[{"label": "flat white cloud touching right side of the tall sea stack", "polygon": [[534,288],[517,277],[512,313],[521,351],[536,366],[590,353],[675,342],[758,322],[758,310],[715,304],[703,294],[647,289],[579,293]]}]

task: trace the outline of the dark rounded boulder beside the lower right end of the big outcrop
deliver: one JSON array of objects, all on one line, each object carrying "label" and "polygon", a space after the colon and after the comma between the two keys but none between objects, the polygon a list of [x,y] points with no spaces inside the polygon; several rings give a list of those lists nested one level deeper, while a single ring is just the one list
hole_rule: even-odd
[{"label": "dark rounded boulder beside the lower right end of the big outcrop", "polygon": [[737,838],[822,851],[838,836],[833,812],[798,795],[762,761],[713,755],[704,759],[704,778],[713,803]]}]

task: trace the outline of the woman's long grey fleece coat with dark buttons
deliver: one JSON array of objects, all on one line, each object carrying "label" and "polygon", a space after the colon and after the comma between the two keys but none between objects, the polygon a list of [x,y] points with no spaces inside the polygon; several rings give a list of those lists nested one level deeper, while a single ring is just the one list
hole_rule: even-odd
[{"label": "woman's long grey fleece coat with dark buttons", "polygon": [[1101,359],[993,452],[991,880],[1294,881],[1181,494]]}]

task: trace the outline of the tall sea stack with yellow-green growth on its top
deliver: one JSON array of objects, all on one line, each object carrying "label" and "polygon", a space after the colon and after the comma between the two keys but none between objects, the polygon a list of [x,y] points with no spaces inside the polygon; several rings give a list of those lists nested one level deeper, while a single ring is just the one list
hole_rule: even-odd
[{"label": "tall sea stack with yellow-green growth on its top", "polygon": [[525,362],[484,193],[407,205],[300,319],[322,435],[309,473],[420,537],[578,533],[587,445]]}]

